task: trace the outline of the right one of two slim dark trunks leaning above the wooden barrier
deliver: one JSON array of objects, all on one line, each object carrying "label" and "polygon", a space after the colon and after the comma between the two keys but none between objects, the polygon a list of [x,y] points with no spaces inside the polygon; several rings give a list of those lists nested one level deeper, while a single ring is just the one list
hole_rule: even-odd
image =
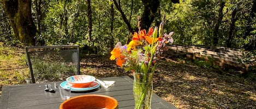
[{"label": "right one of two slim dark trunks leaning above the wooden barrier", "polygon": [[230,28],[229,28],[229,34],[228,34],[228,40],[227,40],[227,47],[231,47],[231,42],[233,40],[233,30],[235,27],[235,22],[236,22],[236,12],[237,12],[237,7],[232,12],[232,17],[231,17],[231,23],[230,23]]}]

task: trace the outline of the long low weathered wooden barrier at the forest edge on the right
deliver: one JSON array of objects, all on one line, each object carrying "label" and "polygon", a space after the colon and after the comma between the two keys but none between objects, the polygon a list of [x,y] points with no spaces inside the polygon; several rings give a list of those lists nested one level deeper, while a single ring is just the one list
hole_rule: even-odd
[{"label": "long low weathered wooden barrier at the forest edge on the right", "polygon": [[227,47],[204,47],[204,46],[177,46],[171,45],[167,46],[169,48],[168,52],[165,53],[166,57],[175,56],[187,56],[190,59],[195,58],[205,58],[212,57],[214,59],[215,65],[219,67],[239,67],[242,69],[247,69],[249,66],[256,66],[256,59],[252,57],[252,63],[243,65],[239,62],[243,54],[246,51],[240,49],[227,48]]}]

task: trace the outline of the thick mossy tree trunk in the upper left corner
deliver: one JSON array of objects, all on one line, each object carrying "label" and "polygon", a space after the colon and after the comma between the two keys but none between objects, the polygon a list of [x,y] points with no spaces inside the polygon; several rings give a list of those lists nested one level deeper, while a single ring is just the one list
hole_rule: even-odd
[{"label": "thick mossy tree trunk in the upper left corner", "polygon": [[3,0],[15,36],[29,45],[35,43],[35,25],[31,14],[31,0]]}]

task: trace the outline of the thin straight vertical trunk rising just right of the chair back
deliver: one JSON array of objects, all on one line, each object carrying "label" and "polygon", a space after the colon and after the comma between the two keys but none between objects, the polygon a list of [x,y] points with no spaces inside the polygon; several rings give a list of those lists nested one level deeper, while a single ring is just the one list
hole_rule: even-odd
[{"label": "thin straight vertical trunk rising just right of the chair back", "polygon": [[91,1],[87,0],[87,17],[88,17],[88,41],[92,41],[92,9],[91,9]]}]

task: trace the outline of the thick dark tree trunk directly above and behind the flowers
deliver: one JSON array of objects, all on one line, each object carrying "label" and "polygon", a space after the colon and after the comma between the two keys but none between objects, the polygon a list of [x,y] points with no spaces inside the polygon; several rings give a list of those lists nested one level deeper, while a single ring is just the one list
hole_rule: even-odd
[{"label": "thick dark tree trunk directly above and behind the flowers", "polygon": [[160,2],[159,0],[142,0],[142,3],[144,11],[141,17],[141,29],[148,29],[156,17],[154,14],[157,12]]}]

